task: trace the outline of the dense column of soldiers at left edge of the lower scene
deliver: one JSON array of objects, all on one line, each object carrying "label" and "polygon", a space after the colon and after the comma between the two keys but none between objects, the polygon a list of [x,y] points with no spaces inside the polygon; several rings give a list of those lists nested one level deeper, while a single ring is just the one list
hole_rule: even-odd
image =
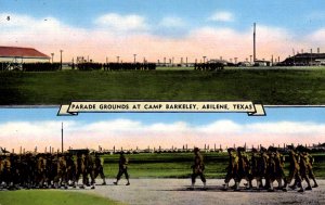
[{"label": "dense column of soldiers at left edge of the lower scene", "polygon": [[[0,189],[65,188],[91,185],[100,176],[106,184],[100,155],[79,153],[10,154],[0,156]],[[81,177],[81,183],[78,183]],[[89,180],[90,178],[90,180]]]}]

